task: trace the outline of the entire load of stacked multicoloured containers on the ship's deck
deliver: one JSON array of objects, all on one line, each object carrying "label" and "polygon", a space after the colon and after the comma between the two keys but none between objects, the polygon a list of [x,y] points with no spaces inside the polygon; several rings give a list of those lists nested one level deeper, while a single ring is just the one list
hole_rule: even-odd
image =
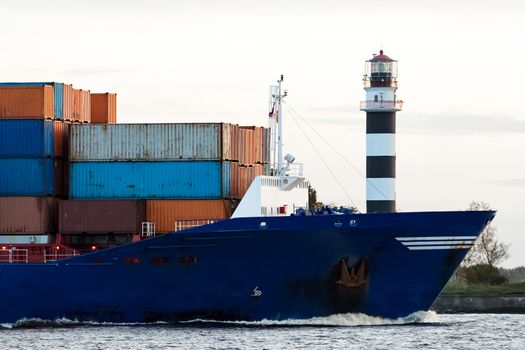
[{"label": "entire load of stacked multicoloured containers on the ship's deck", "polygon": [[61,233],[89,248],[129,242],[144,221],[165,233],[180,220],[227,218],[265,173],[268,135],[228,123],[116,124],[116,94],[0,83],[0,234]]}]

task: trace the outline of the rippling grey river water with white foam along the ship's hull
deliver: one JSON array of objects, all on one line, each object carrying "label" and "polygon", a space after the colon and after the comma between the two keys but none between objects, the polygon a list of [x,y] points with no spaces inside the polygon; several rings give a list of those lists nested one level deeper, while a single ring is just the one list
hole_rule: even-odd
[{"label": "rippling grey river water with white foam along the ship's hull", "polygon": [[105,324],[23,320],[0,349],[525,349],[525,315],[418,312],[400,319],[340,314],[306,320]]}]

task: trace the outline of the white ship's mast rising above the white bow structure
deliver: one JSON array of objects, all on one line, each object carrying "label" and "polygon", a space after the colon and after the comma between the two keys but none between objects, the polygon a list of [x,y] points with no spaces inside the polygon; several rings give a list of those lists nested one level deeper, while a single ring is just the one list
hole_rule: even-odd
[{"label": "white ship's mast rising above the white bow structure", "polygon": [[268,114],[268,125],[270,127],[270,145],[272,175],[278,175],[283,169],[283,114],[282,99],[287,92],[282,90],[284,77],[277,80],[277,85],[270,86],[270,112]]}]

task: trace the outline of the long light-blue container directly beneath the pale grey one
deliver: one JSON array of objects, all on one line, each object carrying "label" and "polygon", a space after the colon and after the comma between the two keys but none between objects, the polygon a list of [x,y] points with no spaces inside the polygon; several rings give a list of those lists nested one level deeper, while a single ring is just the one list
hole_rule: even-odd
[{"label": "long light-blue container directly beneath the pale grey one", "polygon": [[70,198],[217,199],[230,193],[228,162],[74,162]]}]

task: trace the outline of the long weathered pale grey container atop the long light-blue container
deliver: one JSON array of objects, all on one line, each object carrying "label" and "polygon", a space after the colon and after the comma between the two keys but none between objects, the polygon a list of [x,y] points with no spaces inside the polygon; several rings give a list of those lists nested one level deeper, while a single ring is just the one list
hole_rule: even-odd
[{"label": "long weathered pale grey container atop the long light-blue container", "polygon": [[220,160],[221,136],[220,123],[73,125],[70,159]]}]

